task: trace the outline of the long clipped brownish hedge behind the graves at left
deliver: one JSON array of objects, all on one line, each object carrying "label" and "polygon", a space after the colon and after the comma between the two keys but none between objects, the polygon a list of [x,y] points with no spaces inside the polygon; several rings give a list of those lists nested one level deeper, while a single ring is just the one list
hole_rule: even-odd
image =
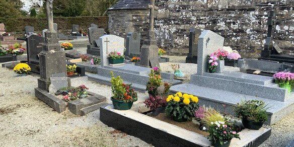
[{"label": "long clipped brownish hedge behind the graves at left", "polygon": [[[33,26],[35,31],[42,31],[47,28],[46,18],[0,18],[0,23],[5,24],[6,32],[24,32],[25,26]],[[108,28],[108,17],[54,17],[58,29],[69,30],[72,24],[80,25],[84,30],[88,29],[91,23],[99,28]]]}]

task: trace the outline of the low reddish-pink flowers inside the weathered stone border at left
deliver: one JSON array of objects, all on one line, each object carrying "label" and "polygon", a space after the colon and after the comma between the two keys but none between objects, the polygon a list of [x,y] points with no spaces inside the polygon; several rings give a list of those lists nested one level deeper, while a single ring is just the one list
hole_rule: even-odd
[{"label": "low reddish-pink flowers inside the weathered stone border at left", "polygon": [[89,90],[89,88],[87,88],[85,85],[81,85],[77,88],[68,87],[58,90],[56,95],[63,95],[62,100],[69,102],[88,97],[87,90]]}]

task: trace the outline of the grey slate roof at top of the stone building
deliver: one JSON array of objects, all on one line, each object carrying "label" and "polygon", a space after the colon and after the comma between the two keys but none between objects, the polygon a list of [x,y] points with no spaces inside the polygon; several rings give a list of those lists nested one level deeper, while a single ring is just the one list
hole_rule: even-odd
[{"label": "grey slate roof at top of the stone building", "polygon": [[120,0],[108,10],[148,9],[150,0]]}]

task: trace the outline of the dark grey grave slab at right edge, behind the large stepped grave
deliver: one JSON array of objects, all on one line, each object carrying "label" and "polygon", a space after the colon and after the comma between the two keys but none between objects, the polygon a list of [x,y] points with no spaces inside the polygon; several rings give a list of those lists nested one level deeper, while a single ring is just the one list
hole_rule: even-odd
[{"label": "dark grey grave slab at right edge, behind the large stepped grave", "polygon": [[257,60],[257,59],[239,59],[238,67],[240,71],[260,70],[263,72],[276,73],[279,71],[291,71],[294,72],[294,64],[278,63],[277,61],[269,60]]}]

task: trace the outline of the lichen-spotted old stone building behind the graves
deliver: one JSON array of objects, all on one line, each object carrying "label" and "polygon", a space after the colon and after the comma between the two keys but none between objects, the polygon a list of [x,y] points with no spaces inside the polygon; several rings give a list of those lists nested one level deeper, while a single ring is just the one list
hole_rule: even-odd
[{"label": "lichen-spotted old stone building behind the graves", "polygon": [[[149,26],[149,0],[120,0],[108,10],[109,31],[121,37],[137,31],[142,38]],[[158,45],[171,54],[188,52],[191,27],[224,36],[225,45],[244,57],[258,57],[267,33],[268,12],[275,10],[275,42],[294,52],[294,1],[263,0],[156,0]]]}]

